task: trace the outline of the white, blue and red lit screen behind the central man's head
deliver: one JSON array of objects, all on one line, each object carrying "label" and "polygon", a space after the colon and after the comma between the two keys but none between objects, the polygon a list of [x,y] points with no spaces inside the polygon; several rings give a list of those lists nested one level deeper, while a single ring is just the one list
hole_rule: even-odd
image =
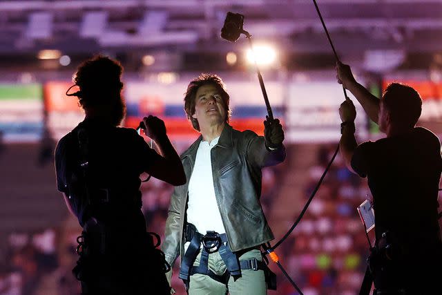
[{"label": "white, blue and red lit screen behind the central man's head", "polygon": [[[198,137],[184,113],[184,91],[189,82],[173,84],[153,84],[128,82],[125,84],[127,116],[125,125],[136,128],[147,115],[156,115],[164,120],[167,133],[174,140]],[[233,111],[230,124],[238,130],[249,129],[262,135],[265,115],[264,99],[258,83],[225,82],[230,95],[230,108]],[[273,115],[282,117],[282,87],[280,84],[266,84]]]}]

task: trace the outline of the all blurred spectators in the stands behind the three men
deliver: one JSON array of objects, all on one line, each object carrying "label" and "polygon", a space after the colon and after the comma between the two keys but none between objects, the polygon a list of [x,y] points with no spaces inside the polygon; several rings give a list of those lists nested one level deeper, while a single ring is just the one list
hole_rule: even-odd
[{"label": "all blurred spectators in the stands behind the three men", "polygon": [[[305,172],[309,181],[302,187],[304,202],[335,149],[334,144],[321,145],[318,149],[316,162]],[[180,152],[180,146],[177,150]],[[284,169],[285,166],[276,166],[262,173],[261,202],[269,219],[271,212],[277,212],[272,210],[275,206],[272,201],[280,193]],[[173,187],[151,178],[142,183],[141,189],[148,231],[164,238]],[[350,173],[338,155],[304,218],[277,251],[287,272],[305,295],[358,294],[369,245],[356,207],[370,198],[366,181]],[[66,216],[66,222],[59,227],[10,234],[7,259],[0,265],[0,295],[79,294],[79,284],[71,269],[77,260],[76,238],[80,232],[75,218]],[[369,234],[373,238],[372,233]],[[177,294],[185,294],[182,281],[176,275],[178,265],[175,264],[173,287]],[[278,292],[269,294],[297,294],[280,270],[272,269],[278,276]]]}]

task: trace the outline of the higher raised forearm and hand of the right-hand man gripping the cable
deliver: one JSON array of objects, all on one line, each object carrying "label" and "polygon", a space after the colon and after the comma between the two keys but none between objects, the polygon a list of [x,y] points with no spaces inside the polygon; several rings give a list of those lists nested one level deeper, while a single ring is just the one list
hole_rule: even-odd
[{"label": "higher raised forearm and hand of the right-hand man gripping the cable", "polygon": [[344,88],[348,89],[354,97],[358,99],[358,102],[362,105],[369,118],[378,124],[378,97],[369,93],[364,86],[356,82],[352,69],[347,64],[343,64],[339,61],[336,63],[336,78],[339,84],[343,84]]}]

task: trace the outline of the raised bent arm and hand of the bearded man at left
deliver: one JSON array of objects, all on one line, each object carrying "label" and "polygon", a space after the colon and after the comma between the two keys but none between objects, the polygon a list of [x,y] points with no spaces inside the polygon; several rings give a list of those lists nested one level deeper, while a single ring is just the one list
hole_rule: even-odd
[{"label": "raised bent arm and hand of the bearded man at left", "polygon": [[186,175],[184,174],[180,156],[173,148],[166,134],[164,122],[153,116],[144,117],[143,122],[146,126],[144,132],[155,141],[160,150],[160,155],[162,155],[162,158],[156,160],[155,164],[151,165],[146,172],[154,178],[175,186],[186,183]]}]

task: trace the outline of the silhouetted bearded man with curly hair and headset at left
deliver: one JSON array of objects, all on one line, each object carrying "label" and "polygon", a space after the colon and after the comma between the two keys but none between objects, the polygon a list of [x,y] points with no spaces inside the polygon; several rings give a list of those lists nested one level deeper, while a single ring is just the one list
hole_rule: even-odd
[{"label": "silhouetted bearded man with curly hair and headset at left", "polygon": [[173,185],[185,182],[180,158],[164,122],[144,117],[146,134],[162,155],[134,129],[119,128],[125,114],[122,66],[97,56],[75,74],[86,117],[57,144],[57,188],[84,228],[73,272],[83,294],[169,294],[164,254],[146,233],[140,174]]}]

